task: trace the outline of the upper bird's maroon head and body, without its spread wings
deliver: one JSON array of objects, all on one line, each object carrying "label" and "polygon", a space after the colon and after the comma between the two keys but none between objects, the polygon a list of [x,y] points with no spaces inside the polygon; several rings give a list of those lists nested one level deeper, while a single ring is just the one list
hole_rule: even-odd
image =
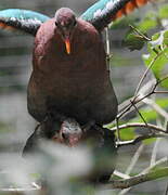
[{"label": "upper bird's maroon head and body, without its spread wings", "polygon": [[37,31],[28,84],[28,110],[42,121],[49,110],[81,125],[107,123],[117,114],[117,100],[106,68],[99,31],[76,18],[68,8],[56,11]]}]

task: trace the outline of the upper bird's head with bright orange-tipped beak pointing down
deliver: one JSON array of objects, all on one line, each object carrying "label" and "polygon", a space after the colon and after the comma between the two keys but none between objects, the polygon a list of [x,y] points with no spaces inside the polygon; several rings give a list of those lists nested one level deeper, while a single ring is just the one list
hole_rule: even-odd
[{"label": "upper bird's head with bright orange-tipped beak pointing down", "polygon": [[65,42],[66,52],[70,54],[70,41],[76,27],[77,20],[75,13],[68,8],[62,8],[55,13],[55,26],[57,32]]}]

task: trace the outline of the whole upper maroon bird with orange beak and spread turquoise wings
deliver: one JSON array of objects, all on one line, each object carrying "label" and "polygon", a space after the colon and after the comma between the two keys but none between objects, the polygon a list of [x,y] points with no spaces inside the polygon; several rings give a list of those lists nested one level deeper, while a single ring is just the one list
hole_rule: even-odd
[{"label": "whole upper maroon bird with orange beak and spread turquoise wings", "polygon": [[118,103],[101,34],[112,21],[146,2],[100,0],[79,17],[68,8],[52,18],[28,10],[0,11],[0,27],[35,36],[27,107],[37,121],[53,110],[81,125],[115,119]]}]

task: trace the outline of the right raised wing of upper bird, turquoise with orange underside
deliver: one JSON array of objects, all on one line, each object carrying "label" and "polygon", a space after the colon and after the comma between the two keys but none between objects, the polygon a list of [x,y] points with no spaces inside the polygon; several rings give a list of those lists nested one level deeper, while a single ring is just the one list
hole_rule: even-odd
[{"label": "right raised wing of upper bird, turquoise with orange underside", "polygon": [[[150,0],[100,0],[90,6],[80,17],[102,30],[112,21],[132,12]],[[119,13],[117,15],[117,13]]]}]

